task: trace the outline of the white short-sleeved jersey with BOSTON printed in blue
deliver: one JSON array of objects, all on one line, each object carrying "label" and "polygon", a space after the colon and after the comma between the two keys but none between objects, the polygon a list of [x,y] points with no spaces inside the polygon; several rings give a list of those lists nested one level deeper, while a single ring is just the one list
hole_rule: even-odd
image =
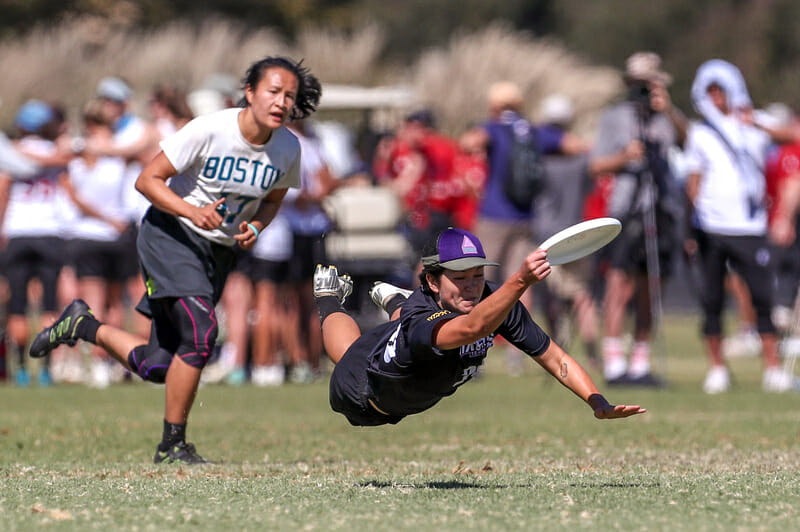
[{"label": "white short-sleeved jersey with BOSTON printed in blue", "polygon": [[266,144],[247,142],[239,130],[242,109],[225,109],[195,118],[161,149],[178,171],[169,187],[197,207],[225,198],[222,225],[207,231],[180,217],[192,231],[212,242],[232,246],[239,224],[249,221],[274,189],[299,188],[300,144],[285,127]]}]

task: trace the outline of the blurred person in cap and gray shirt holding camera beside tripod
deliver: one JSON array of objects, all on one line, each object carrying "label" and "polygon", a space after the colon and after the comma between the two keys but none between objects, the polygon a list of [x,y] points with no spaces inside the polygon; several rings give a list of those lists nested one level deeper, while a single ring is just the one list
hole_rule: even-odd
[{"label": "blurred person in cap and gray shirt holding camera beside tripod", "polygon": [[[609,268],[603,300],[605,315],[602,343],[603,373],[609,384],[660,386],[651,371],[652,316],[649,273],[670,275],[677,247],[678,202],[667,163],[670,148],[686,137],[687,122],[670,100],[672,81],[653,52],[637,52],[625,64],[627,97],[603,113],[589,157],[589,171],[596,178],[611,175],[613,185],[608,216],[622,222],[622,234],[606,249]],[[655,202],[646,177],[655,181]],[[653,205],[655,203],[655,205]],[[645,215],[655,210],[658,272],[648,271],[645,253]],[[676,212],[678,211],[678,212]],[[654,268],[651,256],[650,268]],[[634,344],[630,360],[622,336],[630,301],[636,301]]]}]

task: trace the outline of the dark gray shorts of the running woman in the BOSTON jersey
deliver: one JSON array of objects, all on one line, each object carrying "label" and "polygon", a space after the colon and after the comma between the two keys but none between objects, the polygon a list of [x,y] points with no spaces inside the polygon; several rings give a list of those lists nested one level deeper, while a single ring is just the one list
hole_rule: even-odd
[{"label": "dark gray shorts of the running woman in the BOSTON jersey", "polygon": [[144,216],[136,247],[147,288],[136,310],[146,316],[150,299],[200,296],[216,305],[236,264],[232,247],[211,242],[155,207]]}]

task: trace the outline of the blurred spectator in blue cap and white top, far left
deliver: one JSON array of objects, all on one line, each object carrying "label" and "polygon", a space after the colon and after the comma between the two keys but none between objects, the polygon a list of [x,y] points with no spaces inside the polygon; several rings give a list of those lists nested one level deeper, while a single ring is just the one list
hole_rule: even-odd
[{"label": "blurred spectator in blue cap and white top, far left", "polygon": [[[63,236],[67,200],[58,177],[69,154],[59,151],[56,139],[60,123],[53,107],[29,100],[17,111],[14,125],[19,134],[16,149],[36,161],[40,169],[30,177],[13,179],[0,174],[0,220],[4,247],[8,303],[7,345],[19,365],[16,382],[28,386],[30,375],[25,353],[31,336],[29,286],[38,279],[42,286],[42,323],[49,324],[58,309],[58,279],[64,265]],[[38,374],[41,386],[52,383],[49,358]]]}]

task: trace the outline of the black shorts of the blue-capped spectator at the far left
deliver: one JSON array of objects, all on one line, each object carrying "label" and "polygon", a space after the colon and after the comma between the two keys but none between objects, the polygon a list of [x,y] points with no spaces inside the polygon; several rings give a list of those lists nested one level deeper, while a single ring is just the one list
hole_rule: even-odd
[{"label": "black shorts of the blue-capped spectator at the far left", "polygon": [[58,310],[58,276],[64,266],[64,240],[53,236],[18,237],[8,241],[3,262],[10,293],[8,313],[24,315],[28,308],[28,283],[42,283],[42,310]]}]

